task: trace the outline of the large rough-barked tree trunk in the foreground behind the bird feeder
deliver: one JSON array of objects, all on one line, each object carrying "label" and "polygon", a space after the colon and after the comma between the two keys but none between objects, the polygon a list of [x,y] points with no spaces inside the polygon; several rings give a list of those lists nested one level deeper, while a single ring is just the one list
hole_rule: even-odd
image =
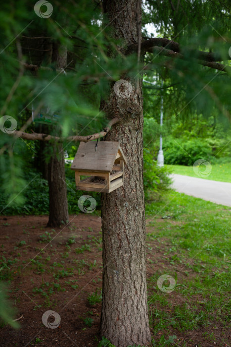
[{"label": "large rough-barked tree trunk in the foreground behind the bird feeder", "polygon": [[[138,43],[141,34],[137,30],[137,19],[141,19],[140,3],[137,8],[137,0],[127,0],[126,6],[123,0],[104,0],[103,8],[113,27],[114,38],[122,39],[126,46]],[[109,194],[101,194],[101,336],[116,347],[127,347],[147,345],[150,330],[146,294],[142,81],[126,76],[121,78],[131,83],[131,95],[116,95],[112,85],[108,100],[102,101],[100,106],[108,118],[120,117],[120,122],[113,126],[106,140],[119,141],[128,160],[124,186]]]}]

